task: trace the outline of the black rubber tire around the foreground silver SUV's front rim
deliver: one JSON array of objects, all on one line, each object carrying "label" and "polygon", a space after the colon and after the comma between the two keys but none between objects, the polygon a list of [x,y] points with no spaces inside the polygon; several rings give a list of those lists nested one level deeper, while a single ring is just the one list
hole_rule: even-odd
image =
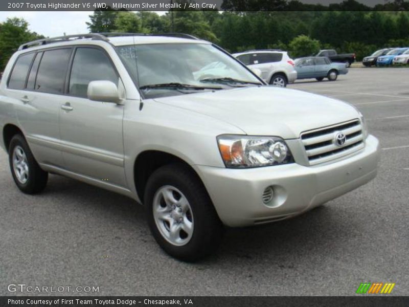
[{"label": "black rubber tire around the foreground silver SUV's front rim", "polygon": [[[168,208],[165,198],[161,198],[162,194],[160,193],[162,189],[167,187],[176,188],[180,191],[188,201],[191,210],[191,221],[193,221],[192,234],[190,238],[189,234],[186,236],[189,240],[181,246],[171,243],[169,238],[166,238],[163,234],[167,229],[170,235],[170,222],[157,219],[154,216],[154,208],[158,208],[158,206],[162,206],[164,209]],[[147,220],[152,235],[161,248],[169,255],[182,261],[191,262],[210,255],[219,246],[223,234],[223,225],[205,187],[194,171],[187,166],[183,164],[169,164],[155,170],[148,179],[144,198],[147,208]],[[173,210],[176,209],[173,206]],[[165,211],[168,212],[167,210]],[[172,214],[175,211],[170,212],[167,218],[171,220],[173,225],[177,225],[176,220],[172,220],[174,218]],[[180,219],[183,220],[183,218]],[[166,223],[167,226],[165,225]],[[183,224],[184,222],[179,223]],[[177,233],[181,237],[183,229],[178,230]]]}]

